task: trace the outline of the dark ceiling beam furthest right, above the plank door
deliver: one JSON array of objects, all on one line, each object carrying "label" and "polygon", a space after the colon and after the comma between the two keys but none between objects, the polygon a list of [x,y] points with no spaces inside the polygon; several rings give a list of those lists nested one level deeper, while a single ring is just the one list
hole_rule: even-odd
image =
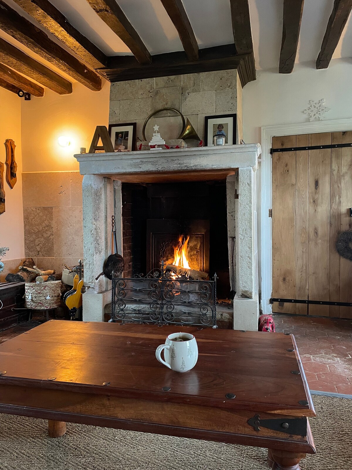
[{"label": "dark ceiling beam furthest right, above the plank door", "polygon": [[327,69],[332,55],[337,47],[344,26],[350,16],[352,0],[335,0],[321,43],[321,50],[316,60],[317,69]]}]

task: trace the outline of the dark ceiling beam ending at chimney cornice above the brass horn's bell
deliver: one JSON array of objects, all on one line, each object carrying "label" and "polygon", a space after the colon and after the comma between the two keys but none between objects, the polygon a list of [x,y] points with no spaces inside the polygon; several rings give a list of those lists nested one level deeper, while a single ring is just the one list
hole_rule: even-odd
[{"label": "dark ceiling beam ending at chimney cornice above the brass horn's bell", "polygon": [[197,39],[182,0],[161,0],[161,3],[180,36],[187,57],[189,60],[198,60],[199,50]]}]

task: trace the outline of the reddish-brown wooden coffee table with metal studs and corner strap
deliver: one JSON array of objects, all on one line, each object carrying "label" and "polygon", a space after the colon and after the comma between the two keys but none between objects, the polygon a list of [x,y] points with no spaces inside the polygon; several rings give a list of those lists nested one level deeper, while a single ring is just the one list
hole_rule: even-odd
[{"label": "reddish-brown wooden coffee table with metal studs and corner strap", "polygon": [[[195,335],[194,369],[155,358],[171,332]],[[272,469],[314,454],[315,416],[293,336],[50,320],[0,345],[0,412],[267,447]]]}]

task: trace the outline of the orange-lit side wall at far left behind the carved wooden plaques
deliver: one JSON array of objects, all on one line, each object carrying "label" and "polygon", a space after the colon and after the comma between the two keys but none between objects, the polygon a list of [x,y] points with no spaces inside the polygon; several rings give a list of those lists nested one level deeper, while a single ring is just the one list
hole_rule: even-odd
[{"label": "orange-lit side wall at far left behind the carved wooden plaques", "polygon": [[5,163],[4,142],[13,139],[16,144],[17,182],[11,189],[6,182],[4,168],[5,208],[0,215],[0,246],[9,251],[3,262],[23,258],[23,206],[22,206],[22,156],[21,156],[21,99],[14,93],[0,88],[0,161]]}]

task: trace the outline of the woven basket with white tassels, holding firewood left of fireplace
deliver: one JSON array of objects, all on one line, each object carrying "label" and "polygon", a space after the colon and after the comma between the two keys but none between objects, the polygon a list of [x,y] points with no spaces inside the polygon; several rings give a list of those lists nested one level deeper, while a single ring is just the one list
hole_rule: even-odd
[{"label": "woven basket with white tassels, holding firewood left of fireplace", "polygon": [[25,306],[30,310],[51,310],[60,305],[61,281],[26,282]]}]

